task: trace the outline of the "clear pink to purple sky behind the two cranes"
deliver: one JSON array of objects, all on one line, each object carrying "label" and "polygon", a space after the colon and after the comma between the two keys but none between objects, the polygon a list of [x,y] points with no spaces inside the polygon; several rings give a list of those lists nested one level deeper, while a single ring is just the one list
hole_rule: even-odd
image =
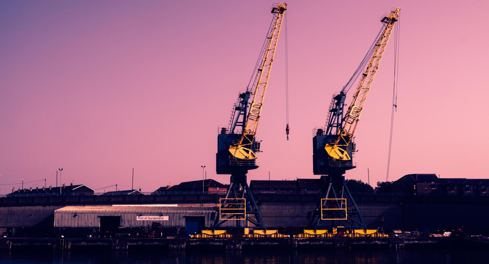
[{"label": "clear pink to purple sky behind the two cranes", "polygon": [[[47,178],[151,192],[216,175],[219,125],[244,89],[272,1],[1,1],[0,184]],[[398,111],[390,180],[411,173],[488,178],[489,2],[288,1],[248,179],[312,174],[312,129],[401,7]],[[356,130],[347,178],[385,180],[394,42]],[[350,92],[348,102],[351,100]],[[0,193],[20,185],[1,185]],[[24,184],[31,187],[32,184]],[[37,186],[42,186],[41,184]],[[36,187],[34,185],[33,187]],[[108,190],[106,190],[108,191]]]}]

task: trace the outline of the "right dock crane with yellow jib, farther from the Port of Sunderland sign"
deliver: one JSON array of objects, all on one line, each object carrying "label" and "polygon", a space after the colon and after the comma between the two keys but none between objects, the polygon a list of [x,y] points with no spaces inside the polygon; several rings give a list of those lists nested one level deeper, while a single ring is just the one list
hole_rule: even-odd
[{"label": "right dock crane with yellow jib, farther from the Port of Sunderland sign", "polygon": [[[366,229],[360,210],[345,183],[344,174],[347,170],[356,167],[352,161],[353,153],[356,151],[353,135],[394,24],[399,20],[399,12],[400,8],[394,8],[382,17],[380,20],[382,27],[367,54],[345,87],[338,94],[333,95],[328,126],[324,128],[325,130],[314,129],[313,173],[321,175],[325,188],[316,208],[311,212],[309,219],[311,228],[317,229],[326,224],[336,228],[339,224],[352,230]],[[359,82],[355,86],[353,100],[343,115],[346,94],[354,87],[353,83],[357,79]]]}]

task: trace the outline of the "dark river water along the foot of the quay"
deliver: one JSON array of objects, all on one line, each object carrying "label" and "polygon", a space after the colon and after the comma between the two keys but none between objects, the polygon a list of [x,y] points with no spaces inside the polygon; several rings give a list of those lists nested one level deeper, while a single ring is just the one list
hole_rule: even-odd
[{"label": "dark river water along the foot of the quay", "polygon": [[487,251],[481,249],[400,249],[400,250],[195,250],[175,253],[167,250],[13,250],[0,252],[1,264],[484,264]]}]

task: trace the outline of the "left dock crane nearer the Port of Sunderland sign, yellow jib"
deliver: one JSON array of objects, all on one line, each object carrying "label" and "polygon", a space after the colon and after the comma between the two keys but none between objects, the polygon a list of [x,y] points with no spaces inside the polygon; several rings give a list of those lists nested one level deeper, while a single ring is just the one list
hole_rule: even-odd
[{"label": "left dock crane nearer the Port of Sunderland sign, yellow jib", "polygon": [[[240,222],[244,220],[255,227],[266,228],[249,189],[246,174],[249,170],[257,169],[259,165],[256,158],[260,151],[260,142],[257,142],[255,135],[286,10],[286,3],[272,5],[273,18],[265,43],[246,90],[239,93],[233,105],[229,119],[231,127],[222,127],[218,132],[216,173],[230,174],[231,177],[226,196],[220,199],[214,228],[221,227],[228,220],[236,220],[236,227],[244,228],[246,225]],[[251,103],[248,102],[250,100]]]}]

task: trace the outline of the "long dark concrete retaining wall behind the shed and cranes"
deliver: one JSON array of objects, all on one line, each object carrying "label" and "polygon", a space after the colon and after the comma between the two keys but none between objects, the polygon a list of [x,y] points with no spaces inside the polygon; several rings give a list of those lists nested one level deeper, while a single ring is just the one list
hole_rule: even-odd
[{"label": "long dark concrete retaining wall behind the shed and cranes", "polygon": [[[404,230],[463,226],[474,232],[489,231],[489,197],[353,195],[368,228],[375,229],[380,224],[384,229]],[[279,228],[306,227],[308,213],[320,195],[256,193],[254,196],[267,227]],[[0,227],[52,227],[54,211],[66,205],[177,203],[212,208],[219,198],[218,194],[0,198]],[[190,211],[189,214],[193,215]],[[210,226],[209,214],[202,215],[206,215],[206,225]]]}]

